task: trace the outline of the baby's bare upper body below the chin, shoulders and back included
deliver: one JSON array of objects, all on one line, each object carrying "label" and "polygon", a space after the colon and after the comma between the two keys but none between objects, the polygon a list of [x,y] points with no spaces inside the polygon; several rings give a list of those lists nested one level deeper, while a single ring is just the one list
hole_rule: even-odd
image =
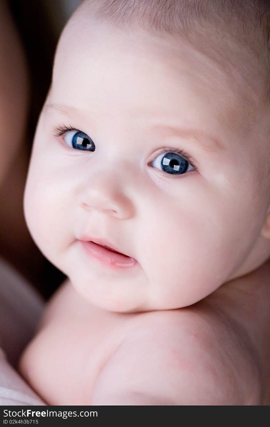
[{"label": "baby's bare upper body below the chin, shoulders and back included", "polygon": [[66,281],[19,371],[49,405],[268,405],[269,275],[267,262],[192,307],[132,314],[94,307]]}]

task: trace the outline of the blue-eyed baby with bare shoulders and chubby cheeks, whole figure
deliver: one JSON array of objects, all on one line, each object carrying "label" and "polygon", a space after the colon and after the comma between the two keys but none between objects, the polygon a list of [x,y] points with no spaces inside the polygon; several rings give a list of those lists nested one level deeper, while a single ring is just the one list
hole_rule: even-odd
[{"label": "blue-eyed baby with bare shoulders and chubby cheeks, whole figure", "polygon": [[86,0],[67,23],[24,198],[68,277],[18,366],[47,404],[270,403],[269,17]]}]

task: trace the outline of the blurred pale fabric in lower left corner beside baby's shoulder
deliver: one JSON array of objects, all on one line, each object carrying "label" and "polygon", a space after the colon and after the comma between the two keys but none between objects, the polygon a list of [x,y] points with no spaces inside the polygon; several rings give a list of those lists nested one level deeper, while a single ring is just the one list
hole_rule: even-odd
[{"label": "blurred pale fabric in lower left corner beside baby's shoulder", "polygon": [[41,296],[0,259],[0,405],[46,405],[17,373],[23,348],[35,334]]}]

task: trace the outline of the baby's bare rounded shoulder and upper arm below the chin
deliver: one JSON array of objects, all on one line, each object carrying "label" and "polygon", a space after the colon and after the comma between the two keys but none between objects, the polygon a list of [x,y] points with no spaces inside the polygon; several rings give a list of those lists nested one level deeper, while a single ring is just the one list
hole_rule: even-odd
[{"label": "baby's bare rounded shoulder and upper arm below the chin", "polygon": [[259,404],[253,398],[256,381],[242,358],[246,349],[225,332],[217,339],[215,328],[193,313],[178,319],[157,313],[157,322],[150,316],[102,369],[91,404]]}]

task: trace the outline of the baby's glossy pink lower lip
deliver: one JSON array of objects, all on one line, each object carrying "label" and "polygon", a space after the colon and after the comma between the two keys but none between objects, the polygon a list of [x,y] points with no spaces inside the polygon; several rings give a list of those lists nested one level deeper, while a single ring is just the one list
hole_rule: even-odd
[{"label": "baby's glossy pink lower lip", "polygon": [[112,252],[97,243],[81,241],[81,244],[84,252],[86,252],[88,256],[96,258],[102,264],[105,264],[110,268],[131,268],[137,263],[134,258],[116,254],[116,252]]}]

